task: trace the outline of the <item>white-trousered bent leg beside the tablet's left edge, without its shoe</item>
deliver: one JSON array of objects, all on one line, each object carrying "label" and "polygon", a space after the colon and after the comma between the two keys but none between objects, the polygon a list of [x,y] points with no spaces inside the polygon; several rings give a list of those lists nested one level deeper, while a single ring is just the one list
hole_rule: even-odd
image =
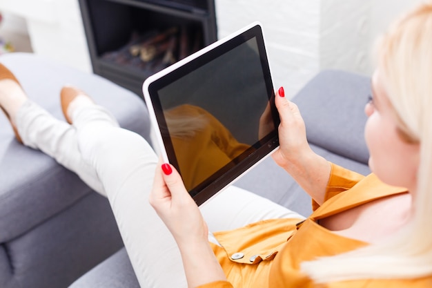
[{"label": "white-trousered bent leg beside the tablet's left edge, without its shoe", "polygon": [[110,118],[94,105],[72,113],[79,151],[104,185],[139,283],[187,287],[177,244],[148,203],[157,156],[144,138]]}]

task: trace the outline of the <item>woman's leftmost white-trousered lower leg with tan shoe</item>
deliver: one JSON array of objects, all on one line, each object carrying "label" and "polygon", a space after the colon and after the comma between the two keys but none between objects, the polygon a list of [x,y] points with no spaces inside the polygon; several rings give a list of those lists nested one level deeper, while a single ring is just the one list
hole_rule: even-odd
[{"label": "woman's leftmost white-trousered lower leg with tan shoe", "polygon": [[75,129],[31,102],[19,81],[2,64],[0,108],[8,117],[19,142],[50,155],[66,168],[77,172],[92,189],[104,193],[94,169],[81,159]]}]

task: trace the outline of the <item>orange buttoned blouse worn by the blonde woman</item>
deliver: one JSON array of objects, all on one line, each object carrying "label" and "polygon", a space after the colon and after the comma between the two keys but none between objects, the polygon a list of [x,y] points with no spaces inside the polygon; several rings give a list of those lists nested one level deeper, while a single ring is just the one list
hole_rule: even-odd
[{"label": "orange buttoned blouse worn by the blonde woman", "polygon": [[212,244],[228,281],[211,282],[200,288],[228,287],[432,287],[429,278],[406,280],[350,280],[316,285],[300,271],[300,263],[318,256],[333,256],[367,243],[345,238],[317,224],[317,220],[389,195],[406,193],[388,186],[373,174],[364,177],[332,164],[326,201],[304,221],[275,219],[215,233],[222,244]]}]

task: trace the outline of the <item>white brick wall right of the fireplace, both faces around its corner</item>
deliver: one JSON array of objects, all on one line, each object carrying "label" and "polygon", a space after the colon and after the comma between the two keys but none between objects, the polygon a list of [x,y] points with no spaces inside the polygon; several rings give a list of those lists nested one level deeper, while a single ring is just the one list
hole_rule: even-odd
[{"label": "white brick wall right of the fireplace, both faces around its corner", "polygon": [[[273,81],[295,94],[323,68],[366,73],[370,0],[217,0],[219,37],[260,21]],[[355,9],[353,9],[353,6]]]}]

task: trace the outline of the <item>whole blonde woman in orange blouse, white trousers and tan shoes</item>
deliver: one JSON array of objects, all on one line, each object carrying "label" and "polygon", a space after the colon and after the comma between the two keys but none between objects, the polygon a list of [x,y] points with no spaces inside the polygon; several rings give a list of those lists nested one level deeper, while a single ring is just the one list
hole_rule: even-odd
[{"label": "whole blonde woman in orange blouse, white trousers and tan shoes", "polygon": [[0,66],[0,107],[17,140],[108,197],[143,287],[432,287],[431,75],[429,2],[381,41],[365,108],[366,177],[313,153],[300,112],[278,90],[273,159],[313,198],[307,219],[233,186],[199,209],[173,166],[76,88],[61,92],[66,124]]}]

